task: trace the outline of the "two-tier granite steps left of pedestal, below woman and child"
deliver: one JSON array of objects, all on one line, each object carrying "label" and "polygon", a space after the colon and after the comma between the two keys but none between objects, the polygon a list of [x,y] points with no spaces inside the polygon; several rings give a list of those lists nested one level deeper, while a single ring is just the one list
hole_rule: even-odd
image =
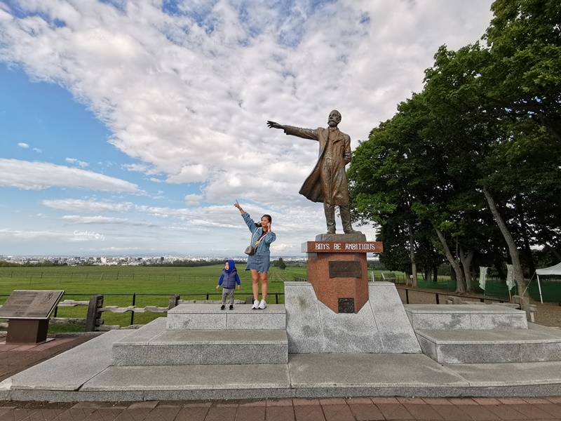
[{"label": "two-tier granite steps left of pedestal, below woman and child", "polygon": [[114,342],[111,366],[285,364],[284,305],[264,310],[189,304]]}]

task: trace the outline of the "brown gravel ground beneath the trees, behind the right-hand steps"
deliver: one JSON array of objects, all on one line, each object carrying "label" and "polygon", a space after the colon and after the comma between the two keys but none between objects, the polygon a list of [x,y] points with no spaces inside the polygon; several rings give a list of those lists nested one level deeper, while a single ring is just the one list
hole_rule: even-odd
[{"label": "brown gravel ground beneath the trees, behind the right-hand steps", "polygon": [[[401,289],[404,288],[403,286],[397,286],[398,292],[401,297],[401,301],[405,304],[405,290]],[[433,290],[433,289],[421,289],[421,288],[412,288],[407,287],[410,289],[409,295],[409,303],[410,304],[436,304],[436,295],[435,293],[438,292],[438,300],[440,304],[445,304],[447,300],[447,293],[444,290]],[[478,294],[470,294],[462,296],[462,300],[464,301],[480,301],[480,299],[484,299],[487,303],[492,303],[489,298],[485,295],[478,295]],[[561,307],[560,303],[558,302],[544,302],[543,304],[539,301],[530,300],[530,302],[538,307],[538,311],[534,314],[534,318],[536,323],[541,324],[543,326],[554,326],[561,328]]]}]

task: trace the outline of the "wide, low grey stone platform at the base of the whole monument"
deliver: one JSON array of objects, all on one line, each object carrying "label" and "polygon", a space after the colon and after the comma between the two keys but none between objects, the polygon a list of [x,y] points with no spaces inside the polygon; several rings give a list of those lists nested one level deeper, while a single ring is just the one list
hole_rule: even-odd
[{"label": "wide, low grey stone platform at the base of the whole monument", "polygon": [[131,333],[105,333],[13,375],[0,384],[0,396],[65,402],[561,394],[558,361],[441,365],[424,354],[290,354],[283,364],[109,366],[113,343]]}]

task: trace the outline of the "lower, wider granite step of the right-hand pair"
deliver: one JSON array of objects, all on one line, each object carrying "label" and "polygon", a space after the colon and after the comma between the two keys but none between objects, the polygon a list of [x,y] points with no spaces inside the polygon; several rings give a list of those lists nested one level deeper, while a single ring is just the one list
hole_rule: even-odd
[{"label": "lower, wider granite step of the right-hand pair", "polygon": [[561,330],[415,330],[421,349],[438,363],[560,361]]}]

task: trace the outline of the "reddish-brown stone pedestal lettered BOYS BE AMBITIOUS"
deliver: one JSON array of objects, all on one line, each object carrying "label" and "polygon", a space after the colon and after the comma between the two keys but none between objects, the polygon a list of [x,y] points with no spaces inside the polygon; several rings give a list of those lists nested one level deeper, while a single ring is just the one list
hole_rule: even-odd
[{"label": "reddish-brown stone pedestal lettered BOYS BE AMBITIOUS", "polygon": [[366,253],[381,253],[382,243],[364,234],[322,234],[302,243],[308,282],[320,302],[335,313],[354,313],[368,301]]}]

